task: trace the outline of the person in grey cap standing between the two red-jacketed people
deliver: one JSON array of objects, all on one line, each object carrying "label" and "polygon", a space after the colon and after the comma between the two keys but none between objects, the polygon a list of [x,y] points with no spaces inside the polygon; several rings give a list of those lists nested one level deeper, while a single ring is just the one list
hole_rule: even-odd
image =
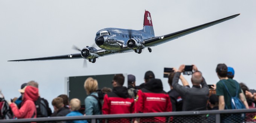
[{"label": "person in grey cap standing between the two red-jacketed people", "polygon": [[132,74],[129,74],[127,77],[128,77],[128,94],[133,98],[135,98],[138,92],[138,90],[135,88],[136,78]]}]

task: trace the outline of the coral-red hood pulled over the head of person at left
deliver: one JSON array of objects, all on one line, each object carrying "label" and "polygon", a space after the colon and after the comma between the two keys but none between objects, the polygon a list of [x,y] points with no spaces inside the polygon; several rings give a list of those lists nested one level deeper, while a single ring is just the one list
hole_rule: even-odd
[{"label": "coral-red hood pulled over the head of person at left", "polygon": [[33,86],[27,86],[24,92],[24,98],[23,101],[31,100],[31,101],[37,101],[38,98],[38,89]]}]

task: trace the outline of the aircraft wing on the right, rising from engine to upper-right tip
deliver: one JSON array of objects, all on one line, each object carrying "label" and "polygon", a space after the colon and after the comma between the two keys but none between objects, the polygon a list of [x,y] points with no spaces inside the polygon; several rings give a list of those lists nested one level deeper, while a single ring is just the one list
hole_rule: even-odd
[{"label": "aircraft wing on the right, rising from engine to upper-right tip", "polygon": [[209,22],[209,23],[206,23],[206,24],[202,24],[202,25],[199,25],[199,26],[196,26],[196,27],[188,28],[186,30],[181,30],[181,31],[178,31],[176,33],[166,34],[166,35],[163,35],[163,36],[154,37],[152,39],[147,39],[147,40],[143,41],[143,44],[146,47],[157,46],[159,44],[166,43],[168,41],[177,39],[181,36],[185,36],[187,34],[194,33],[196,31],[202,30],[202,29],[210,27],[212,25],[219,24],[221,22],[224,22],[224,21],[227,21],[229,19],[235,18],[238,15],[240,15],[240,14],[232,15],[232,16],[222,18],[222,19],[219,19],[219,20],[216,20],[216,21],[212,21],[212,22]]}]

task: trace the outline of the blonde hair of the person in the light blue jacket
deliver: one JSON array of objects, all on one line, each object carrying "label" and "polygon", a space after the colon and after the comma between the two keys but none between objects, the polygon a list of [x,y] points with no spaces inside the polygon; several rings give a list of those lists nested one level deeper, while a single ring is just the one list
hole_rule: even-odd
[{"label": "blonde hair of the person in the light blue jacket", "polygon": [[96,79],[91,77],[87,78],[84,82],[84,89],[86,90],[87,95],[98,90],[98,82]]}]

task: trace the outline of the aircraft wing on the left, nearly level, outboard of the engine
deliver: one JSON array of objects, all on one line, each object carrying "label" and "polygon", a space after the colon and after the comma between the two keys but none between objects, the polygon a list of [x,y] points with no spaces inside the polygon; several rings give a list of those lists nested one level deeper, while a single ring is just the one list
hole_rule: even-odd
[{"label": "aircraft wing on the left, nearly level, outboard of the engine", "polygon": [[43,61],[43,60],[57,60],[57,59],[77,59],[77,58],[82,58],[81,53],[41,57],[41,58],[31,58],[31,59],[10,60],[10,61]]}]

